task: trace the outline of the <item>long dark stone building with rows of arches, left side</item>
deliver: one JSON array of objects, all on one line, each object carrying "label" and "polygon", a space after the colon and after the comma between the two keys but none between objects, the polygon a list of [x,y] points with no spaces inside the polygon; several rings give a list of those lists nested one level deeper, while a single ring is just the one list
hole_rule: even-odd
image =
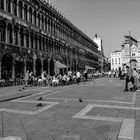
[{"label": "long dark stone building with rows of arches, left side", "polygon": [[0,0],[0,79],[54,75],[56,61],[96,68],[98,46],[45,1]]}]

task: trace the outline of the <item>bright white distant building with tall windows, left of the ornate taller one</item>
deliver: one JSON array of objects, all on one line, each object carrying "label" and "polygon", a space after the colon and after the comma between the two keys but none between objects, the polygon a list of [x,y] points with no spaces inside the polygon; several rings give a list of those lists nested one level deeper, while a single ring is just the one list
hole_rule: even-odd
[{"label": "bright white distant building with tall windows, left of the ornate taller one", "polygon": [[116,50],[111,53],[111,70],[122,69],[122,51]]}]

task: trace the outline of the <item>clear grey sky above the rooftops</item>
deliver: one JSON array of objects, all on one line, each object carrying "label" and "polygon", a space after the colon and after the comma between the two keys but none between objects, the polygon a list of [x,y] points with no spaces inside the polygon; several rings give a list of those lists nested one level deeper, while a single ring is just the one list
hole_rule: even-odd
[{"label": "clear grey sky above the rooftops", "polygon": [[83,33],[103,39],[104,54],[121,49],[124,35],[140,39],[140,0],[49,0]]}]

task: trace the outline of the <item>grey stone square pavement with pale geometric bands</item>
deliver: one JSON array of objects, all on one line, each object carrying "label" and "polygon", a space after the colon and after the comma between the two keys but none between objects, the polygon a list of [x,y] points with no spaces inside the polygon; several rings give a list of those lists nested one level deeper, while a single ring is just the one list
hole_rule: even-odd
[{"label": "grey stone square pavement with pale geometric bands", "polygon": [[0,140],[139,140],[140,91],[123,82],[1,88]]}]

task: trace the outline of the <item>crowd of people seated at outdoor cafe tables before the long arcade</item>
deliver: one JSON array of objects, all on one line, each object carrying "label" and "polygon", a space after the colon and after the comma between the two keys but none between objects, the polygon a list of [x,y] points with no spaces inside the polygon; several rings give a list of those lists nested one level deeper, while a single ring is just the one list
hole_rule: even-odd
[{"label": "crowd of people seated at outdoor cafe tables before the long arcade", "polygon": [[88,79],[88,72],[85,70],[83,73],[68,71],[64,74],[55,74],[49,76],[45,71],[42,72],[41,76],[35,77],[33,72],[27,70],[25,74],[25,86],[32,85],[44,85],[44,86],[58,86],[58,85],[69,85],[78,84],[83,81],[84,83]]}]

